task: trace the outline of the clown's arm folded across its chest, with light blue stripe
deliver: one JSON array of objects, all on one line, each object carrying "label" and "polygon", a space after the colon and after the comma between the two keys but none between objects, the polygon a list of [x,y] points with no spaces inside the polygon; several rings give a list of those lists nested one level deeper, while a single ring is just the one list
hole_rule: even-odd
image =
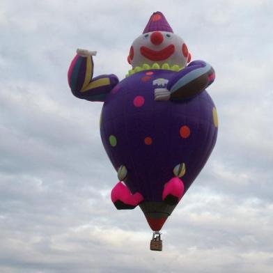
[{"label": "clown's arm folded across its chest, with light blue stripe", "polygon": [[214,81],[214,69],[204,61],[193,61],[177,72],[166,88],[155,89],[155,100],[184,100],[197,95]]}]

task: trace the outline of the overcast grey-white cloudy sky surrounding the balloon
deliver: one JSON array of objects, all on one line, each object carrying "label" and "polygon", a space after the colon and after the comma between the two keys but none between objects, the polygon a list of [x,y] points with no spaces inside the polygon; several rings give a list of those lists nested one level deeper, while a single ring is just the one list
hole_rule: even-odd
[{"label": "overcast grey-white cloudy sky surrounding the balloon", "polygon": [[[102,103],[67,82],[77,48],[98,51],[95,75],[123,79],[157,10],[214,67],[219,116],[162,252],[139,208],[111,203]],[[1,0],[0,272],[273,272],[272,13],[270,0]]]}]

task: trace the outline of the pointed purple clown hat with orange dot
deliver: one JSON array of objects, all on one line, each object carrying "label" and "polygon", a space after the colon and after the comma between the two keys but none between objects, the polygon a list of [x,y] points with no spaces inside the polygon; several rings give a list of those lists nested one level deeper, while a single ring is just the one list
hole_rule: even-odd
[{"label": "pointed purple clown hat with orange dot", "polygon": [[167,22],[163,13],[160,13],[160,11],[153,13],[153,15],[150,17],[143,34],[150,31],[168,31],[173,33],[173,29],[171,29],[171,26]]}]

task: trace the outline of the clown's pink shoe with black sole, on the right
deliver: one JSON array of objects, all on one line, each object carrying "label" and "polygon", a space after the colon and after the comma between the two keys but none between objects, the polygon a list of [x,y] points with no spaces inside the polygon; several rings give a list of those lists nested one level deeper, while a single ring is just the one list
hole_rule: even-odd
[{"label": "clown's pink shoe with black sole, on the right", "polygon": [[180,178],[171,178],[164,186],[162,199],[168,205],[177,205],[184,194],[184,184]]}]

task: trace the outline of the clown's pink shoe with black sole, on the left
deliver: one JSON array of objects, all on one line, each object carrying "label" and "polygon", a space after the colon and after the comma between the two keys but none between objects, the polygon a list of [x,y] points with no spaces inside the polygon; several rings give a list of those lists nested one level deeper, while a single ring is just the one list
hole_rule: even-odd
[{"label": "clown's pink shoe with black sole, on the left", "polygon": [[111,200],[118,210],[132,210],[144,198],[139,192],[132,194],[122,182],[118,182],[111,191]]}]

